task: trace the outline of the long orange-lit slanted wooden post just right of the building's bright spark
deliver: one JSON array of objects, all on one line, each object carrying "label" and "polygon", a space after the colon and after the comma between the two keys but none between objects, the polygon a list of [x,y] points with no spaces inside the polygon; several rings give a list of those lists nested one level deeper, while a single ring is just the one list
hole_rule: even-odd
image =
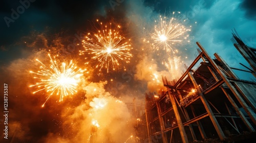
[{"label": "long orange-lit slanted wooden post just right of the building's bright spark", "polygon": [[219,125],[215,115],[214,115],[214,113],[212,112],[208,102],[206,101],[203,93],[201,92],[201,89],[198,86],[194,76],[191,74],[191,71],[189,71],[188,76],[191,79],[192,83],[194,84],[195,88],[197,88],[197,91],[200,94],[200,99],[201,99],[201,101],[202,101],[202,103],[203,103],[207,113],[209,114],[210,120],[211,120],[212,124],[214,125],[214,127],[215,127],[215,129],[216,129],[216,131],[217,131],[217,133],[219,135],[219,138],[221,140],[224,140],[225,135],[224,135],[224,133],[223,133],[223,131],[222,131],[222,129],[221,129],[221,127],[220,127],[220,125]]}]

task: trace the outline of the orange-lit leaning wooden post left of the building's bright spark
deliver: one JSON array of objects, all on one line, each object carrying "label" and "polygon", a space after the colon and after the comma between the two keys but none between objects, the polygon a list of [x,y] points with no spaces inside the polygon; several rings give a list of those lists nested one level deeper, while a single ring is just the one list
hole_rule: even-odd
[{"label": "orange-lit leaning wooden post left of the building's bright spark", "polygon": [[168,90],[168,95],[169,95],[169,98],[170,98],[170,102],[173,105],[174,114],[175,114],[175,117],[176,117],[176,120],[177,120],[177,124],[178,124],[179,130],[180,130],[180,135],[181,135],[182,142],[183,143],[188,143],[187,134],[186,134],[184,126],[182,124],[181,117],[180,117],[177,105],[175,103],[175,99],[172,96],[172,94],[170,94],[169,90]]}]

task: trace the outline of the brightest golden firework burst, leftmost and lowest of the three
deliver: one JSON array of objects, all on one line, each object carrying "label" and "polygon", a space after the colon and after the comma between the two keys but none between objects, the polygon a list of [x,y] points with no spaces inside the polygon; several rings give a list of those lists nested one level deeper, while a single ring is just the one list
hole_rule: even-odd
[{"label": "brightest golden firework burst, leftmost and lowest of the three", "polygon": [[[66,63],[62,63],[61,66],[58,65],[58,63],[55,60],[52,60],[50,54],[48,54],[50,57],[51,66],[48,67],[42,62],[41,63],[40,70],[37,71],[37,73],[30,71],[30,73],[36,74],[38,77],[34,77],[35,79],[39,79],[40,82],[36,83],[35,85],[31,85],[30,87],[37,86],[40,88],[39,90],[33,92],[36,93],[41,90],[46,90],[47,92],[50,92],[50,95],[48,96],[47,100],[53,95],[57,94],[60,96],[59,101],[63,100],[64,96],[68,96],[69,94],[74,94],[77,92],[76,87],[78,85],[78,82],[80,81],[79,78],[82,76],[82,72],[84,70],[77,69],[77,67],[70,61],[69,65],[66,65]],[[45,101],[45,103],[47,102]],[[45,103],[42,105],[44,107]]]}]

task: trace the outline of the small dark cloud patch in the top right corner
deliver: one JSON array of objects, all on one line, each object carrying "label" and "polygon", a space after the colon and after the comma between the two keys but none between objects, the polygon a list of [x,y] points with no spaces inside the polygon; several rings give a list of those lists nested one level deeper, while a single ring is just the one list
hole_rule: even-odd
[{"label": "small dark cloud patch in the top right corner", "polygon": [[246,16],[249,18],[256,18],[256,1],[244,0],[241,3],[241,7],[246,10]]}]

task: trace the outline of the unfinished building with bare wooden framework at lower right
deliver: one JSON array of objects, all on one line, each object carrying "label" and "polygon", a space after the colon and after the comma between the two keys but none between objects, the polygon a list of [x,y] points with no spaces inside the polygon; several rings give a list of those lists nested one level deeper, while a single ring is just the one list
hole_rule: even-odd
[{"label": "unfinished building with bare wooden framework at lower right", "polygon": [[230,67],[217,53],[212,59],[197,42],[198,55],[181,78],[162,77],[167,91],[146,93],[144,142],[250,142],[256,138],[256,83],[234,74],[240,70],[256,77],[256,49],[237,34],[231,40],[252,69]]}]

